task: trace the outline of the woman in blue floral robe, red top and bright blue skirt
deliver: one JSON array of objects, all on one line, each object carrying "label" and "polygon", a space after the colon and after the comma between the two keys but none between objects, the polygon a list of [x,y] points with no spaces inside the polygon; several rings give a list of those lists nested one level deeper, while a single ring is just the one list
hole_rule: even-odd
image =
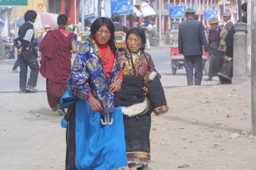
[{"label": "woman in blue floral robe, red top and bright blue skirt", "polygon": [[109,18],[99,17],[90,32],[79,43],[61,99],[62,106],[69,106],[61,122],[68,126],[66,168],[127,170],[124,122],[115,102],[122,84],[115,27]]}]

